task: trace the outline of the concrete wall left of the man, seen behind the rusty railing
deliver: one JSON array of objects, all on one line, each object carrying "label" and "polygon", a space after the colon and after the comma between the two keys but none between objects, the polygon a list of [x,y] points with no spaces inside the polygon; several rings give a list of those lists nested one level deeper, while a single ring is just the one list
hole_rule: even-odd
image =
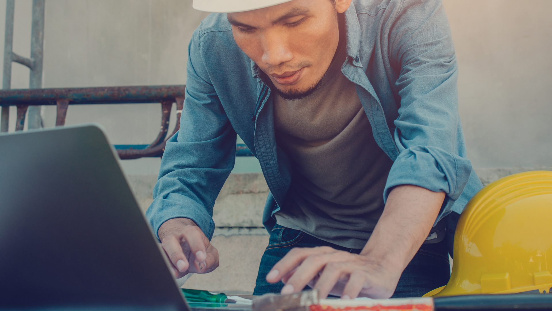
[{"label": "concrete wall left of the man, seen behind the rusty railing", "polygon": [[[15,1],[14,51],[30,55],[32,0]],[[6,1],[0,0],[3,57]],[[186,83],[188,43],[207,13],[191,0],[47,0],[43,87],[164,85]],[[29,87],[29,69],[14,63],[12,89]],[[174,127],[173,106],[169,130]],[[56,108],[43,107],[45,127],[55,125]],[[161,105],[70,106],[66,125],[98,122],[113,144],[147,144],[157,136]],[[15,107],[10,131],[15,128]],[[126,160],[129,174],[157,174],[160,160]],[[258,162],[257,162],[258,163]],[[253,158],[239,159],[236,172],[259,170]],[[260,171],[260,170],[259,170]]]}]

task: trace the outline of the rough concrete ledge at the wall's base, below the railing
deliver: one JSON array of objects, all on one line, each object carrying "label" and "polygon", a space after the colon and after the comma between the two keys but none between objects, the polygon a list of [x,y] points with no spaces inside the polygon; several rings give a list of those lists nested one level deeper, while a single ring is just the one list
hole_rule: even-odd
[{"label": "rough concrete ledge at the wall's base, below the railing", "polygon": [[[476,169],[485,185],[507,175],[540,168]],[[129,182],[143,211],[152,201],[157,175],[129,175]],[[251,294],[268,232],[262,225],[268,186],[261,173],[230,174],[213,208],[217,228],[211,242],[219,250],[220,267],[207,274],[194,274],[184,288],[209,289],[227,294]],[[452,263],[452,260],[451,260]]]}]

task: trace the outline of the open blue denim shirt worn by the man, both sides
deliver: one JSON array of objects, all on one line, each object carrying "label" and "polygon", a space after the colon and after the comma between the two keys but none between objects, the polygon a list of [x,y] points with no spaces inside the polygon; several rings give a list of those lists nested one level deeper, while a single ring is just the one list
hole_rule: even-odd
[{"label": "open blue denim shirt worn by the man, both sides", "polygon": [[[458,66],[441,1],[353,0],[345,23],[341,70],[356,85],[375,141],[394,160],[384,200],[394,186],[418,185],[447,194],[435,224],[460,213],[482,185],[466,159]],[[263,224],[272,230],[291,169],[276,144],[273,99],[261,77],[236,45],[226,14],[206,17],[188,46],[181,128],[167,142],[146,212],[155,232],[168,219],[186,217],[211,239],[236,133],[261,163],[270,189]]]}]

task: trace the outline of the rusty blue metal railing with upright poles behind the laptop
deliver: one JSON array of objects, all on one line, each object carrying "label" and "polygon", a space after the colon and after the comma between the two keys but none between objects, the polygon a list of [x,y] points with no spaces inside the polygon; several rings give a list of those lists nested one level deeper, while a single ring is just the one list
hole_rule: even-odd
[{"label": "rusty blue metal railing with upright poles behind the laptop", "polygon": [[[0,91],[0,132],[8,132],[9,106],[17,106],[15,131],[22,131],[28,112],[28,128],[43,127],[40,106],[56,105],[56,126],[65,124],[69,105],[102,103],[161,103],[161,129],[151,144],[115,145],[121,159],[160,157],[165,148],[169,117],[176,102],[176,126],[171,137],[180,128],[180,116],[184,103],[185,85],[159,86],[115,86],[79,87],[68,89],[41,89],[44,54],[44,6],[45,0],[33,0],[33,22],[31,27],[31,54],[25,58],[13,51],[13,19],[15,0],[6,0],[6,33],[4,36],[4,70],[2,91]],[[29,89],[10,90],[12,84],[12,63],[19,63],[30,69]],[[253,154],[245,144],[236,145],[236,155]]]}]

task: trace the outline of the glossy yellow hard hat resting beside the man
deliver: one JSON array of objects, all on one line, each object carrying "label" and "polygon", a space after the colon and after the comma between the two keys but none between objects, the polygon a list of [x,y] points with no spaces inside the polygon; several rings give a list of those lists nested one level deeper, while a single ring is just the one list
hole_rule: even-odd
[{"label": "glossy yellow hard hat resting beside the man", "polygon": [[552,172],[509,175],[460,215],[446,286],[424,296],[508,294],[552,287]]}]

